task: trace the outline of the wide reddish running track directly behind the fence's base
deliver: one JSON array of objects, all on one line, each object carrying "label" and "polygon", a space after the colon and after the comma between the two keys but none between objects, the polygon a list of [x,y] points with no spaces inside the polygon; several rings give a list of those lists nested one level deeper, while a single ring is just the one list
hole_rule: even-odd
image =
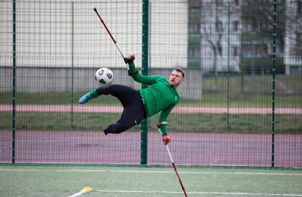
[{"label": "wide reddish running track directly behind the fence's base", "polygon": [[[169,133],[177,165],[271,166],[271,136]],[[12,132],[0,132],[0,162],[12,162]],[[148,165],[171,165],[157,132],[148,133]],[[274,166],[301,168],[301,135],[275,135]],[[140,164],[140,133],[16,131],[16,163]]]}]

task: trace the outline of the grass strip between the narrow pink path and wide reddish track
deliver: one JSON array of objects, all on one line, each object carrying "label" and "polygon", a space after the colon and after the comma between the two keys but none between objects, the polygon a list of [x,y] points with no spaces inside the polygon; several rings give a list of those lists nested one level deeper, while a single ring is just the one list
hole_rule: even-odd
[{"label": "grass strip between the narrow pink path and wide reddish track", "polygon": [[[0,127],[12,129],[11,112],[2,112]],[[96,130],[116,122],[119,113],[18,112],[16,128],[26,130]],[[158,114],[148,119],[148,129],[157,130]],[[140,126],[140,125],[139,125]],[[170,114],[169,130],[205,133],[269,134],[271,115],[262,114]],[[132,129],[137,130],[137,126]],[[301,134],[301,117],[275,115],[276,134]]]}]

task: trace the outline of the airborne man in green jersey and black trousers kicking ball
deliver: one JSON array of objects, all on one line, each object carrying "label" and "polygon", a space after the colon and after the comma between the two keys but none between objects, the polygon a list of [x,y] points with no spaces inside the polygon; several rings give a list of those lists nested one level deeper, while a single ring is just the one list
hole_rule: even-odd
[{"label": "airborne man in green jersey and black trousers kicking ball", "polygon": [[105,135],[120,134],[140,124],[143,118],[161,112],[158,127],[162,130],[165,145],[168,144],[171,139],[167,134],[167,118],[180,101],[176,88],[184,82],[184,72],[181,69],[175,69],[169,80],[162,76],[143,76],[135,68],[134,54],[129,54],[124,60],[129,64],[128,75],[138,83],[149,85],[148,88],[135,90],[124,85],[110,84],[87,93],[79,100],[79,103],[84,104],[90,99],[109,94],[119,99],[124,107],[123,113],[115,124],[109,125],[104,130]]}]

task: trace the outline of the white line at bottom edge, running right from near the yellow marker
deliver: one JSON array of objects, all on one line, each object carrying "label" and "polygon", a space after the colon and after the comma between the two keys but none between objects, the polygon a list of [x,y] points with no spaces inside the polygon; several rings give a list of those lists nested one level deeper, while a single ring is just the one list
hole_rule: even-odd
[{"label": "white line at bottom edge, running right from near the yellow marker", "polygon": [[[183,193],[179,191],[126,191],[126,190],[94,190],[98,192],[119,192],[119,193]],[[190,194],[226,194],[226,195],[269,195],[269,196],[302,196],[302,194],[287,193],[241,193],[241,192],[186,192]]]}]

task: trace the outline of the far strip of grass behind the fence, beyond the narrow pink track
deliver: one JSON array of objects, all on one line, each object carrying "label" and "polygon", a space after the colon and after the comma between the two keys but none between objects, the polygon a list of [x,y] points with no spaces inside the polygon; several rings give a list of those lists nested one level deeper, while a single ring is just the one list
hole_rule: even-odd
[{"label": "far strip of grass behind the fence, beyond the narrow pink track", "polygon": [[[190,80],[190,79],[188,79]],[[201,89],[201,99],[181,99],[179,106],[195,107],[265,107],[272,106],[272,76],[271,75],[235,75],[202,77],[201,84],[195,84]],[[276,75],[275,107],[302,107],[301,76]],[[86,92],[45,92],[21,93],[17,91],[18,105],[71,105]],[[183,92],[185,94],[185,91]],[[199,97],[198,97],[199,98]],[[12,92],[2,92],[0,104],[12,104]],[[86,105],[120,105],[112,96],[101,96],[91,100]]]}]

